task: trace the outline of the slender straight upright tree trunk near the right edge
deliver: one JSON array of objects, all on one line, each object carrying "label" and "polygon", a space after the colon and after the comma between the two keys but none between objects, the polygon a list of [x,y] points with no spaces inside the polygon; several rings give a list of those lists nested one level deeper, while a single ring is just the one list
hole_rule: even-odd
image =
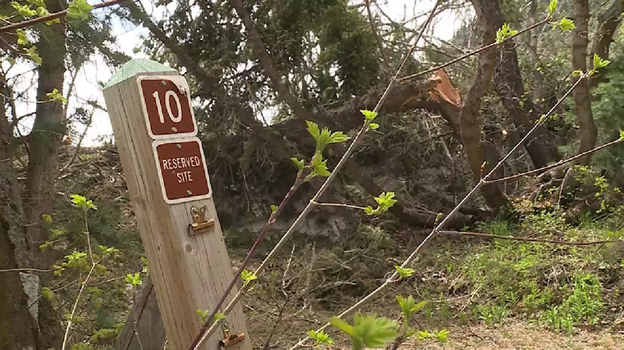
[{"label": "slender straight upright tree trunk near the right edge", "polygon": [[[587,72],[587,46],[589,44],[589,1],[574,1],[574,18],[576,29],[572,38],[572,69]],[[598,131],[592,116],[592,100],[589,82],[583,79],[572,91],[574,113],[577,115],[580,148],[578,153],[589,151],[596,146]],[[578,159],[577,164],[588,165],[591,154]]]}]

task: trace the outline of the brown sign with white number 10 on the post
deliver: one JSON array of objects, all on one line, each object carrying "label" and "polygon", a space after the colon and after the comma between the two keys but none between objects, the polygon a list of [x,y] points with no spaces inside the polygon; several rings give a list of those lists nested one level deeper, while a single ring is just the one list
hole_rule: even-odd
[{"label": "brown sign with white number 10 on the post", "polygon": [[181,75],[139,77],[147,131],[153,139],[197,135],[187,80]]}]

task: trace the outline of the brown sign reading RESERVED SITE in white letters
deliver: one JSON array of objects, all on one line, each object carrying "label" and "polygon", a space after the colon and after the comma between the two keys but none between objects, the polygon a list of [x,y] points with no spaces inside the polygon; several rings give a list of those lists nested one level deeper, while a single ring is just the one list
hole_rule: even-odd
[{"label": "brown sign reading RESERVED SITE in white letters", "polygon": [[198,138],[154,141],[153,148],[165,202],[197,201],[212,195]]}]

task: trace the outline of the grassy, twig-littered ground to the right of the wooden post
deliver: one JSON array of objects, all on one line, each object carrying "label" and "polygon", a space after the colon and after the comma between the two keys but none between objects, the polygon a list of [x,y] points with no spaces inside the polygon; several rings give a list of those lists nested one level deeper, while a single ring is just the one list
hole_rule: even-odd
[{"label": "grassy, twig-littered ground to the right of the wooden post", "polygon": [[[527,215],[519,224],[494,221],[479,224],[477,229],[496,235],[570,241],[623,238],[624,230],[618,227],[624,219],[614,215],[600,222],[586,221],[572,226],[562,215],[542,212]],[[375,235],[370,235],[369,228],[361,230],[364,235],[360,237],[368,239],[360,240],[358,247],[349,241],[351,251],[363,252],[374,245],[389,253],[392,239],[388,234],[376,230]],[[410,242],[408,246],[416,243]],[[391,270],[396,260],[409,253],[408,247],[400,250],[394,259],[377,262],[374,267],[363,267],[365,258],[336,255],[335,248],[329,251],[316,247],[311,254],[309,248],[295,253],[298,255],[296,260],[305,261],[306,265],[296,268],[301,277],[291,280],[290,289],[265,288],[279,286],[281,282],[261,278],[262,284],[248,296],[248,327],[256,342],[266,339],[266,334],[273,328],[267,318],[271,319],[269,310],[277,315],[275,310],[279,310],[280,301],[276,300],[296,294],[296,301],[283,313],[281,326],[277,327],[277,335],[273,337],[286,347],[308,329],[321,326],[330,316],[356,301],[357,295],[381,283],[383,272]],[[561,344],[569,344],[564,349],[599,349],[597,344],[601,342],[604,349],[615,349],[613,344],[622,341],[622,336],[617,333],[624,329],[618,321],[624,319],[624,298],[620,295],[624,286],[623,252],[619,243],[577,247],[440,237],[416,263],[416,274],[410,280],[362,311],[397,318],[400,310],[394,295],[411,294],[417,300],[427,300],[429,304],[414,318],[412,326],[430,335],[450,329],[449,344],[440,345],[445,349],[460,349],[459,344],[464,344],[464,349],[561,349],[557,347]],[[287,259],[282,257],[280,260]],[[328,264],[327,260],[333,262]],[[283,273],[276,270],[280,270],[278,265],[271,272],[273,277],[283,279]],[[328,278],[350,278],[351,284],[333,288],[331,284],[325,284],[326,290],[317,294],[318,286],[323,284],[321,281]],[[269,289],[271,292],[267,293]],[[357,293],[351,293],[353,290]],[[348,345],[334,329],[331,331],[331,336],[338,337],[336,345]],[[485,339],[485,334],[495,340]],[[476,341],[479,337],[483,339]],[[421,338],[426,339],[418,341],[417,338],[418,334],[409,341],[427,344],[427,349],[435,348],[432,348],[436,343],[432,340],[435,336],[421,334]],[[532,345],[530,339],[534,339]],[[598,343],[592,344],[595,341]],[[418,348],[414,344],[410,346],[409,349]]]}]

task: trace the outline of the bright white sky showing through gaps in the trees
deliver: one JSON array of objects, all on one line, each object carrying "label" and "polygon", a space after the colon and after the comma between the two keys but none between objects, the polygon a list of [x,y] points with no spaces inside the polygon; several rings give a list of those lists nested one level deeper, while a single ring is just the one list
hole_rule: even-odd
[{"label": "bright white sky showing through gaps in the trees", "polygon": [[[362,2],[358,0],[357,2]],[[89,3],[94,4],[100,2],[99,0],[88,0]],[[154,6],[150,4],[149,0],[141,0],[145,9],[150,12],[154,11]],[[435,0],[416,0],[417,6],[414,6],[415,0],[378,0],[379,6],[384,10],[389,17],[392,17],[396,21],[402,19],[411,18],[414,15],[420,16],[419,24],[425,21],[426,14],[431,11],[434,6]],[[416,8],[414,8],[416,7]],[[375,11],[375,7],[372,7]],[[94,11],[99,11],[95,9]],[[365,10],[364,10],[365,11]],[[159,11],[152,12],[157,14]],[[434,25],[430,27],[433,31],[433,35],[438,39],[449,40],[452,34],[456,30],[459,23],[457,17],[459,15],[454,12],[444,12],[440,16],[434,19]],[[135,54],[134,49],[141,44],[140,34],[146,34],[147,29],[144,27],[130,26],[117,23],[114,24],[113,31],[115,37],[117,37],[117,49],[124,52],[133,58],[147,58],[144,54]],[[431,30],[429,31],[431,35]],[[422,42],[420,43],[422,44]],[[166,62],[161,62],[166,64]],[[6,62],[2,62],[6,64]],[[16,65],[17,66],[17,65]],[[14,77],[21,74],[24,77],[22,84],[30,84],[34,74],[27,73],[31,67],[27,65],[21,65],[20,67],[14,67],[9,74],[9,77]],[[24,74],[25,73],[25,74]],[[114,74],[109,67],[104,63],[102,57],[94,55],[92,60],[85,64],[76,77],[76,87],[74,89],[74,95],[69,98],[67,105],[71,113],[74,108],[84,104],[85,100],[97,100],[101,106],[105,106],[104,96],[102,95],[102,89],[98,82],[108,82],[109,78]],[[66,78],[69,81],[69,74]],[[65,87],[64,93],[67,93],[68,86]],[[24,100],[17,101],[17,115],[26,115],[32,113],[36,106],[36,95],[34,88],[31,88],[29,94],[24,97]],[[19,129],[22,133],[26,134],[32,125],[31,118],[25,118],[21,121]],[[78,125],[77,133],[80,135],[84,131],[84,127]],[[96,111],[92,125],[87,129],[82,146],[97,146],[103,140],[110,140],[112,136],[112,126],[110,125],[109,116],[104,111]],[[74,143],[77,143],[78,136],[74,136]]]}]

